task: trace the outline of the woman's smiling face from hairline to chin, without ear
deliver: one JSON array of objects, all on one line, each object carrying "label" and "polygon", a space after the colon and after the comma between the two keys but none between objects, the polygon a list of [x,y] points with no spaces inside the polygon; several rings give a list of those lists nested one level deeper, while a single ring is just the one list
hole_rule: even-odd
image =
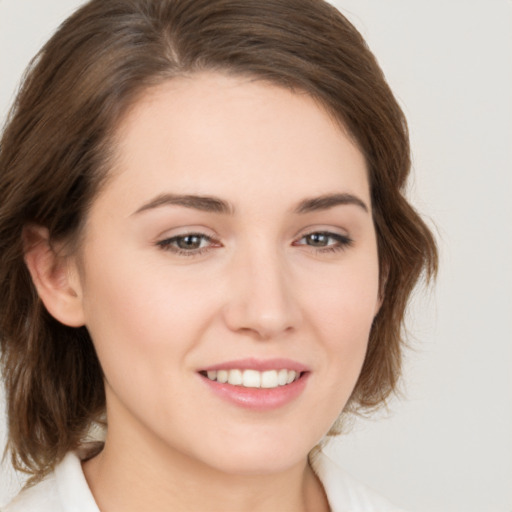
[{"label": "woman's smiling face from hairline to chin, without ear", "polygon": [[217,74],[148,92],[118,135],[79,260],[107,446],[239,474],[303,461],[379,307],[361,152],[306,94]]}]

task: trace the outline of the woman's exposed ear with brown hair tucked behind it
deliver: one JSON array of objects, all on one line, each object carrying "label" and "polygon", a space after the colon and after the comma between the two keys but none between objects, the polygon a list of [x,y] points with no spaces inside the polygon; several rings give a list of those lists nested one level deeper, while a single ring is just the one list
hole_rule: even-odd
[{"label": "woman's exposed ear with brown hair tucked behind it", "polygon": [[42,226],[26,226],[23,242],[25,264],[48,312],[70,327],[84,325],[82,290],[74,260],[59,255],[62,246],[53,246],[48,229]]}]

